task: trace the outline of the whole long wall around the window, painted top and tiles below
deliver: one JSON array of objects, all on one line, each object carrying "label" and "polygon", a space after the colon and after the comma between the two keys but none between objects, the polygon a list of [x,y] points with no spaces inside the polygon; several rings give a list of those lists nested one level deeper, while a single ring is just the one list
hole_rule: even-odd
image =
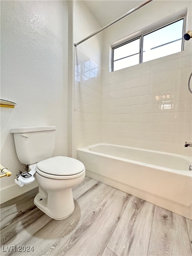
[{"label": "whole long wall around the window, painted top and tiles below", "polygon": [[191,30],[191,1],[154,1],[105,31],[102,142],[191,155],[192,41],[183,52],[109,72],[110,45],[186,12]]}]

